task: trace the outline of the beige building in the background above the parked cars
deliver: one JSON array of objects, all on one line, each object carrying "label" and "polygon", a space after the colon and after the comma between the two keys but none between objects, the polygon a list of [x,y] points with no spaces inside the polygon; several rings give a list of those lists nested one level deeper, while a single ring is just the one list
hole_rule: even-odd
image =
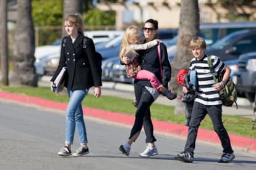
[{"label": "beige building in the background above the parked cars", "polygon": [[[216,4],[217,0],[212,0],[211,5],[208,0],[198,0],[200,9],[200,23],[229,22],[226,19],[230,9],[225,9]],[[122,30],[126,22],[143,23],[148,18],[158,20],[160,28],[178,28],[179,15],[181,10],[181,0],[130,0],[109,3],[107,1],[98,2],[96,8],[100,10],[116,11],[116,29]],[[256,18],[255,8],[248,6],[233,7],[237,14],[247,18]],[[244,19],[244,17],[243,17]]]}]

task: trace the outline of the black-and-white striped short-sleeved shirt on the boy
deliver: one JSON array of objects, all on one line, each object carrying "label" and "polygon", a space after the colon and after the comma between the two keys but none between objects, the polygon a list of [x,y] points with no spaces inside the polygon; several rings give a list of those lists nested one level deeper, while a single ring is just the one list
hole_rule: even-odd
[{"label": "black-and-white striped short-sleeved shirt on the boy", "polygon": [[[215,55],[211,55],[211,62],[213,63],[215,76],[218,79],[218,73],[221,73],[226,65]],[[198,94],[195,102],[202,103],[203,105],[221,105],[222,102],[219,93],[212,87],[215,81],[208,66],[207,55],[202,60],[197,60],[194,57],[190,61],[189,70],[195,70],[197,72]]]}]

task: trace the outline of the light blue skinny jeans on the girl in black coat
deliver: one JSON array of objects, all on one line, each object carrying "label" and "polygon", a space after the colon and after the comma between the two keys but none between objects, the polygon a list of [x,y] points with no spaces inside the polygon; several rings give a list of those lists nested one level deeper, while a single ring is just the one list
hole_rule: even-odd
[{"label": "light blue skinny jeans on the girl in black coat", "polygon": [[67,89],[69,94],[69,103],[66,109],[66,139],[65,144],[73,144],[75,127],[79,136],[80,145],[87,144],[87,133],[85,121],[83,120],[82,100],[88,93],[88,89],[71,91]]}]

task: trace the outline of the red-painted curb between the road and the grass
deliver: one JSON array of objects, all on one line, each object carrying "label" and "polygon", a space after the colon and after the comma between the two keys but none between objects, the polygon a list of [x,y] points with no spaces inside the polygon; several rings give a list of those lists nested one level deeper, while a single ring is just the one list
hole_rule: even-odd
[{"label": "red-painted curb between the road and the grass", "polygon": [[[46,99],[40,99],[38,97],[29,97],[27,95],[12,94],[8,92],[0,91],[0,99],[11,100],[15,102],[25,103],[28,105],[36,105],[44,108],[51,108],[56,110],[66,110],[67,103],[53,102]],[[134,123],[134,116],[126,115],[123,113],[114,113],[105,110],[99,110],[95,108],[83,107],[83,113],[85,116],[92,118],[102,119],[104,121],[110,121],[118,124],[125,124],[132,126]],[[177,137],[187,137],[187,126],[175,123],[167,123],[164,121],[152,120],[154,124],[154,130],[162,134],[168,134]],[[243,150],[245,152],[256,153],[256,139],[249,137],[236,136],[229,134],[231,144],[233,148]],[[214,131],[205,129],[198,129],[197,140],[201,142],[207,142],[210,144],[221,145],[220,139]]]}]

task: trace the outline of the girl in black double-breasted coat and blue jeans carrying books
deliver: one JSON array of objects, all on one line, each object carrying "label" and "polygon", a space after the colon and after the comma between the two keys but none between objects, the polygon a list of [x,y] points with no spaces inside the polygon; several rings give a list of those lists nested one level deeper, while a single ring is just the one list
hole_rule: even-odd
[{"label": "girl in black double-breasted coat and blue jeans carrying books", "polygon": [[[69,94],[69,103],[66,109],[66,139],[65,146],[58,155],[71,155],[71,145],[74,140],[75,127],[81,147],[73,156],[82,156],[89,153],[87,133],[83,121],[82,100],[90,87],[94,86],[94,96],[101,95],[101,67],[95,57],[95,46],[92,39],[86,38],[86,48],[83,47],[83,22],[80,14],[69,15],[64,20],[67,34],[62,39],[61,57],[56,72],[51,78],[51,85],[59,75],[62,67],[67,67],[65,87]],[[58,93],[58,91],[53,92]]]}]

